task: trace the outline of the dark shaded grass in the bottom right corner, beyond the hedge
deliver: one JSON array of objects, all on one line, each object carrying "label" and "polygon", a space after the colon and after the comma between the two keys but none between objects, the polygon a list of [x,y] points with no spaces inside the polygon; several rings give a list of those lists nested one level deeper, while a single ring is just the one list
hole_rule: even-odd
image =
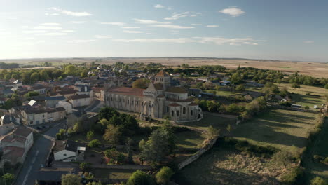
[{"label": "dark shaded grass in the bottom right corner, beyond the hedge", "polygon": [[317,163],[313,161],[314,155],[319,155],[324,158],[328,157],[328,118],[324,123],[322,131],[318,135],[317,139],[310,146],[309,152],[306,153],[307,157],[304,160],[304,167],[306,167],[306,174],[308,180],[313,179],[316,176],[323,177],[328,179],[328,165],[324,165],[323,163]]}]

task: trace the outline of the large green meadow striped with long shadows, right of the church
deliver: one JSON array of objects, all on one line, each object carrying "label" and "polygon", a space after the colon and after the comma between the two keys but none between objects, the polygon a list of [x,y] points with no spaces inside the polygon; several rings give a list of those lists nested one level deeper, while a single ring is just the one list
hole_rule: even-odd
[{"label": "large green meadow striped with long shadows, right of the church", "polygon": [[259,117],[241,123],[231,135],[235,139],[247,140],[260,146],[274,146],[291,150],[306,146],[310,130],[315,128],[317,114],[272,109]]}]

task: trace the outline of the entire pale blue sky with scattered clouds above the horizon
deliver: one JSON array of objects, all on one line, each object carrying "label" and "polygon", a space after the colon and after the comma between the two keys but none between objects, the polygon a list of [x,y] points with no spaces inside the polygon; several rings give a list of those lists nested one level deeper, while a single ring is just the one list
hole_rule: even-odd
[{"label": "entire pale blue sky with scattered clouds above the horizon", "polygon": [[327,0],[0,0],[0,59],[328,62]]}]

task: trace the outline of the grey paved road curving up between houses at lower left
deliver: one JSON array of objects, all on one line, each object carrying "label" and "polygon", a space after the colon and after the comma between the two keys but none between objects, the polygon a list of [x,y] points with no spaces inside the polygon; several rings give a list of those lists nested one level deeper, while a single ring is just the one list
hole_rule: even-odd
[{"label": "grey paved road curving up between houses at lower left", "polygon": [[46,164],[46,158],[50,152],[51,146],[53,144],[53,139],[55,135],[59,132],[60,128],[64,127],[66,120],[59,123],[54,123],[53,128],[50,128],[41,137],[36,139],[32,148],[27,153],[27,158],[22,166],[20,174],[18,174],[17,185],[34,185],[37,178],[38,171],[41,168],[41,164]]}]

